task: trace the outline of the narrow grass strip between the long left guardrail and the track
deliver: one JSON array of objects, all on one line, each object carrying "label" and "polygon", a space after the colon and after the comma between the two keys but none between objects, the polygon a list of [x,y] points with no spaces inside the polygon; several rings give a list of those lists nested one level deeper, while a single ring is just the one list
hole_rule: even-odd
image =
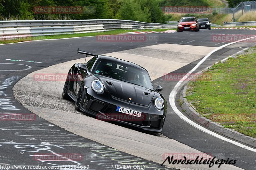
[{"label": "narrow grass strip between the long left guardrail and the track", "polygon": [[60,39],[60,38],[72,38],[72,37],[87,37],[87,36],[97,36],[97,35],[116,35],[122,34],[127,32],[134,32],[134,31],[166,31],[166,30],[176,30],[174,29],[151,29],[151,30],[125,30],[125,29],[116,29],[112,31],[104,31],[104,32],[96,32],[96,33],[77,33],[77,34],[60,34],[60,35],[48,35],[48,36],[36,36],[36,37],[28,37],[28,38],[20,38],[20,39],[13,39],[13,40],[4,40],[0,41],[0,44],[7,44],[7,43],[17,43],[23,41],[31,41],[31,40],[44,40],[44,39]]}]

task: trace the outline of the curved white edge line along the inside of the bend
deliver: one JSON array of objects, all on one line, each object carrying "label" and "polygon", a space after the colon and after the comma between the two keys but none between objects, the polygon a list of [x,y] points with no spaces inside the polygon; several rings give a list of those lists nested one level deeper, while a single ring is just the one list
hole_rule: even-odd
[{"label": "curved white edge line along the inside of the bend", "polygon": [[238,142],[236,142],[236,141],[233,141],[233,140],[230,140],[230,139],[228,139],[228,138],[226,138],[226,137],[223,137],[223,136],[221,136],[221,135],[219,135],[219,134],[217,134],[217,133],[215,133],[215,132],[212,132],[211,130],[208,130],[208,129],[204,128],[204,127],[201,126],[201,125],[196,124],[195,122],[191,121],[190,119],[188,119],[188,118],[187,118],[185,115],[183,115],[183,114],[178,110],[178,108],[176,107],[176,105],[175,105],[175,98],[176,98],[176,94],[177,94],[177,92],[178,92],[178,89],[179,89],[181,83],[187,78],[188,75],[190,75],[191,73],[193,73],[210,55],[212,55],[212,53],[214,53],[214,52],[216,52],[216,51],[218,51],[218,50],[220,50],[220,49],[222,49],[222,48],[224,48],[224,47],[227,47],[227,46],[229,46],[229,45],[231,45],[231,44],[234,44],[234,43],[237,43],[237,42],[241,42],[241,41],[245,41],[245,40],[248,40],[248,39],[251,39],[251,38],[255,38],[255,37],[256,37],[256,36],[250,37],[250,38],[246,38],[246,39],[242,39],[242,40],[238,40],[238,41],[234,41],[234,42],[230,42],[230,43],[228,43],[228,44],[224,44],[224,45],[222,45],[222,46],[220,46],[220,47],[218,47],[218,48],[212,50],[212,51],[211,51],[209,54],[207,54],[199,63],[197,63],[196,66],[195,66],[193,69],[191,69],[183,78],[180,79],[180,81],[174,86],[174,88],[172,89],[172,92],[171,92],[170,95],[169,95],[169,103],[171,104],[171,107],[172,107],[173,111],[174,111],[174,112],[176,113],[176,115],[178,115],[182,120],[184,120],[185,122],[187,122],[187,123],[190,124],[191,126],[195,127],[196,129],[199,129],[199,130],[201,130],[201,131],[203,131],[203,132],[205,132],[205,133],[207,133],[207,134],[209,134],[209,135],[212,135],[213,137],[217,137],[217,138],[219,138],[219,139],[221,139],[221,140],[223,140],[223,141],[229,142],[229,143],[231,143],[231,144],[235,144],[236,146],[239,146],[239,147],[241,147],[241,148],[247,149],[247,150],[252,151],[252,152],[256,152],[256,149],[251,148],[251,147],[249,147],[249,146],[246,146],[246,145],[244,145],[244,144],[240,144],[240,143],[238,143]]}]

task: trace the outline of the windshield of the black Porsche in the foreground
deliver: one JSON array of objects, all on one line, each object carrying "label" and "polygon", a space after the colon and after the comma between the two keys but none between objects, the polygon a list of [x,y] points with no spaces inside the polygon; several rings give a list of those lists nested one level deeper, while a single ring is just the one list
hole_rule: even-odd
[{"label": "windshield of the black Porsche in the foreground", "polygon": [[99,74],[153,90],[148,72],[128,64],[101,59],[92,69],[92,74]]}]

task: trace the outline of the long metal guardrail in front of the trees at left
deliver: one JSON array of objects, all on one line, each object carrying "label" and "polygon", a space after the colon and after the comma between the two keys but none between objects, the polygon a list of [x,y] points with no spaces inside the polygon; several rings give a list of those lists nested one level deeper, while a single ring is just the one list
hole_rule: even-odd
[{"label": "long metal guardrail in front of the trees at left", "polygon": [[119,19],[89,20],[13,20],[0,21],[0,36],[54,35],[100,32],[113,29],[163,29],[177,28],[177,24],[146,23]]}]

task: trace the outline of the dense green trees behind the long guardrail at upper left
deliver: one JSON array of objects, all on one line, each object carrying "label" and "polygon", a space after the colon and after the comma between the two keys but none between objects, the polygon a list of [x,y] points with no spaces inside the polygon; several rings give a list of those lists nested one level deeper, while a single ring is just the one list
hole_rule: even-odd
[{"label": "dense green trees behind the long guardrail at upper left", "polygon": [[[76,14],[35,14],[38,6],[82,6]],[[128,19],[165,23],[156,0],[0,0],[0,20],[10,19]]]}]

